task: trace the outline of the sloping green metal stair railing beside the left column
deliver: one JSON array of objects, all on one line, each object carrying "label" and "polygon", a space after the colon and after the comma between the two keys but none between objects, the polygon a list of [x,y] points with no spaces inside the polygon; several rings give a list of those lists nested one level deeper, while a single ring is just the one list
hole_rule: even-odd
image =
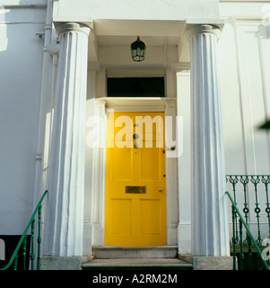
[{"label": "sloping green metal stair railing beside the left column", "polygon": [[34,265],[35,265],[35,222],[36,222],[36,216],[38,215],[38,236],[36,238],[38,242],[38,247],[37,247],[37,263],[36,263],[36,268],[37,270],[40,270],[40,244],[41,244],[41,209],[42,209],[42,202],[46,196],[48,191],[45,191],[39,200],[39,203],[37,205],[37,208],[33,212],[29,223],[26,226],[26,229],[24,229],[24,232],[22,234],[22,237],[20,238],[14,252],[13,256],[11,257],[10,261],[4,268],[1,268],[0,270],[6,270],[13,266],[13,270],[18,269],[18,258],[19,258],[19,249],[22,247],[22,269],[27,270],[29,268],[26,260],[26,248],[27,248],[27,238],[28,238],[28,231],[30,229],[30,270],[34,270]]}]

